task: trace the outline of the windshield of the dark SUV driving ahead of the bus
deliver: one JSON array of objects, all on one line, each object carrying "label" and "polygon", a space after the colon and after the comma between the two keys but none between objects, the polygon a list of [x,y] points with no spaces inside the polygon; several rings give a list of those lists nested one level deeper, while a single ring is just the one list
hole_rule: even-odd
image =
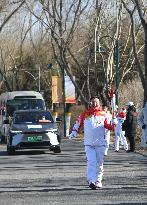
[{"label": "windshield of the dark SUV driving ahead of the bus", "polygon": [[53,122],[50,112],[18,112],[14,114],[14,124]]}]

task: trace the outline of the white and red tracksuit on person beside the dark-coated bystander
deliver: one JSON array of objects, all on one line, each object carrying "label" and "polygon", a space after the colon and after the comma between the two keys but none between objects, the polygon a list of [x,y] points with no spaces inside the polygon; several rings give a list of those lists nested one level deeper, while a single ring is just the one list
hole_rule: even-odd
[{"label": "white and red tracksuit on person beside the dark-coated bystander", "polygon": [[125,137],[125,131],[122,130],[122,123],[124,122],[126,118],[126,111],[122,110],[115,119],[115,150],[119,151],[119,142],[120,138],[122,140],[122,144],[124,146],[125,150],[128,150],[128,143]]}]

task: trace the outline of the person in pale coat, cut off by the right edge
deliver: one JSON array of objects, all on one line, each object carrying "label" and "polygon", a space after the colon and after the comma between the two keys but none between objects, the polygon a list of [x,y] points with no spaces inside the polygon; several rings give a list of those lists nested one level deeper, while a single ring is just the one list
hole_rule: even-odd
[{"label": "person in pale coat, cut off by the right edge", "polygon": [[147,147],[147,102],[138,114],[137,122],[142,129],[141,146]]}]

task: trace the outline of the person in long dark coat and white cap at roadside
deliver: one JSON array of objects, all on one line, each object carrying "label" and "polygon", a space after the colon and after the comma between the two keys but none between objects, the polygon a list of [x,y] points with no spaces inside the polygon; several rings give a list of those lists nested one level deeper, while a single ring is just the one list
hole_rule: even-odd
[{"label": "person in long dark coat and white cap at roadside", "polygon": [[123,127],[125,130],[125,136],[130,144],[130,149],[127,152],[134,152],[137,131],[137,112],[133,102],[127,104],[126,120],[124,121]]}]

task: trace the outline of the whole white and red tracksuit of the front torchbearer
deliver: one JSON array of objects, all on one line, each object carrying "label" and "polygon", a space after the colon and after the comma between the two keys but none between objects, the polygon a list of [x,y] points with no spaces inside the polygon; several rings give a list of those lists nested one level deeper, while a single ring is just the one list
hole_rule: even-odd
[{"label": "whole white and red tracksuit of the front torchbearer", "polygon": [[74,134],[75,128],[78,132],[82,126],[84,126],[84,145],[87,157],[87,181],[89,184],[101,183],[106,149],[105,128],[113,129],[113,125],[108,123],[106,113],[96,107],[89,108],[81,114],[74,126]]}]

